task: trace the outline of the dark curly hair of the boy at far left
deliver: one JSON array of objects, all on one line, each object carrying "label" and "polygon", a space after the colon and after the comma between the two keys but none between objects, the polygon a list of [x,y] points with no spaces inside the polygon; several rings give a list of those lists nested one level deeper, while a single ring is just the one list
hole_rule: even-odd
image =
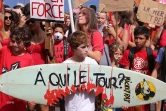
[{"label": "dark curly hair of the boy at far left", "polygon": [[32,33],[28,27],[18,27],[10,34],[10,39],[12,38],[15,38],[17,42],[23,41],[25,47],[28,47],[32,39]]}]

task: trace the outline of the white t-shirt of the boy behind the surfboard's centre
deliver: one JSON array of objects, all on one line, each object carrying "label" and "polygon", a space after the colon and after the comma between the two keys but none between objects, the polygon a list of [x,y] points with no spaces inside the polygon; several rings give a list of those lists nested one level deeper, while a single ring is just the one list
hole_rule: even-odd
[{"label": "white t-shirt of the boy behind the surfboard's centre", "polygon": [[[83,63],[83,64],[96,64],[97,62],[86,57],[82,62],[73,61],[71,58],[65,60],[63,63]],[[95,95],[94,92],[79,92],[65,97],[65,110],[66,111],[94,111],[95,110]]]}]

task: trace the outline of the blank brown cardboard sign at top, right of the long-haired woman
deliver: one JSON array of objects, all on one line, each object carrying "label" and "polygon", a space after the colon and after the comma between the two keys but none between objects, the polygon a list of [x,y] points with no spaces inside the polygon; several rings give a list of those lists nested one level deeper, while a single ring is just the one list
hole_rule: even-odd
[{"label": "blank brown cardboard sign at top, right of the long-haired woman", "polygon": [[134,0],[100,0],[105,12],[133,10]]}]

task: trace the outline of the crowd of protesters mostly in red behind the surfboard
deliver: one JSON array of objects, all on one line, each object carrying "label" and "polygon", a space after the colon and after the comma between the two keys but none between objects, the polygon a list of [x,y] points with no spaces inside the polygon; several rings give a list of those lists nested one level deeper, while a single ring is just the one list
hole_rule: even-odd
[{"label": "crowd of protesters mostly in red behind the surfboard", "polygon": [[[106,65],[141,72],[165,80],[166,17],[162,26],[139,21],[138,6],[133,11],[97,12],[91,5],[80,6],[74,13],[71,31],[68,13],[64,23],[30,18],[30,4],[4,5],[4,31],[0,35],[0,70],[8,71],[48,63],[82,63]],[[53,52],[45,49],[51,34]],[[150,104],[136,107],[103,108],[101,97],[94,92],[77,91],[59,99],[61,111],[150,111]],[[163,110],[163,101],[155,111]],[[0,92],[0,111],[55,111],[55,107],[23,101]]]}]

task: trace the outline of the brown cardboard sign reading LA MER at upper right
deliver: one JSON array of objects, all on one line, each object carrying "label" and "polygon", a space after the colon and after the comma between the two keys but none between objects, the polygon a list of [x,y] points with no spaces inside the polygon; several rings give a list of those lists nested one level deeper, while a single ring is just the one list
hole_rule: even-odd
[{"label": "brown cardboard sign reading LA MER at upper right", "polygon": [[145,23],[161,26],[166,15],[166,5],[152,0],[142,0],[137,12],[137,18]]}]

